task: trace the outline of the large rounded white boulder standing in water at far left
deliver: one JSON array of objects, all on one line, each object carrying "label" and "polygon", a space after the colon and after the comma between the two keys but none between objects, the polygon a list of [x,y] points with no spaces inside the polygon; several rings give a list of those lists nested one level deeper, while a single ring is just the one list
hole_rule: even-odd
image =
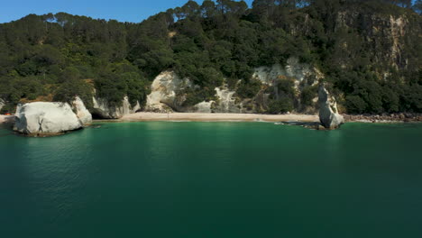
[{"label": "large rounded white boulder standing in water at far left", "polygon": [[68,103],[29,103],[18,105],[14,131],[28,135],[51,135],[83,127]]}]

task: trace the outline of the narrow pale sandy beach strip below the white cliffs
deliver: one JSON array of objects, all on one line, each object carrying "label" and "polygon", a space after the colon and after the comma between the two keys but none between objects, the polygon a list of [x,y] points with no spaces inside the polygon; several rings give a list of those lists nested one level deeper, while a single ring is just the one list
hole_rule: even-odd
[{"label": "narrow pale sandy beach strip below the white cliffs", "polygon": [[126,114],[121,121],[191,121],[191,122],[318,122],[310,114],[200,114],[200,113],[136,113]]}]

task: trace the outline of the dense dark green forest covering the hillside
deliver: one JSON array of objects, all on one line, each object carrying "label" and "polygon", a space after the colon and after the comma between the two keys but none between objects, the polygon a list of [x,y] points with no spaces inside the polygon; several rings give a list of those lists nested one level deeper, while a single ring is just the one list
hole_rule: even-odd
[{"label": "dense dark green forest covering the hillside", "polygon": [[[111,104],[124,96],[144,104],[151,80],[166,69],[198,86],[184,92],[188,105],[214,99],[223,83],[247,98],[261,90],[254,68],[296,57],[325,74],[347,113],[421,113],[420,11],[420,0],[255,0],[252,7],[206,0],[142,23],[30,14],[0,24],[0,98],[4,112],[75,95],[91,107],[95,88]],[[374,15],[385,23],[374,25]],[[404,33],[395,36],[386,23],[400,16]],[[292,109],[293,84],[280,80],[282,96],[271,98],[267,113]],[[305,88],[302,101],[315,94]]]}]

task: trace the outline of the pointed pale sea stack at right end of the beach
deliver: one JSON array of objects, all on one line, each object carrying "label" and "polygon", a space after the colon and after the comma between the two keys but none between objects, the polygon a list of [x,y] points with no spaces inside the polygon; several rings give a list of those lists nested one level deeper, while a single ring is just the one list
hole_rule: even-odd
[{"label": "pointed pale sea stack at right end of the beach", "polygon": [[319,121],[326,129],[337,129],[341,124],[344,124],[344,117],[338,114],[335,98],[330,96],[324,83],[319,85],[318,102]]}]

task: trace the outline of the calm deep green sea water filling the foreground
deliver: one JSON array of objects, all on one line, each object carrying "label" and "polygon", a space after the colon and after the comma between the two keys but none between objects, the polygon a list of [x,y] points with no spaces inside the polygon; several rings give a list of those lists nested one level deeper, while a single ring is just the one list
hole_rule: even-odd
[{"label": "calm deep green sea water filling the foreground", "polygon": [[0,237],[422,237],[422,124],[0,130]]}]

